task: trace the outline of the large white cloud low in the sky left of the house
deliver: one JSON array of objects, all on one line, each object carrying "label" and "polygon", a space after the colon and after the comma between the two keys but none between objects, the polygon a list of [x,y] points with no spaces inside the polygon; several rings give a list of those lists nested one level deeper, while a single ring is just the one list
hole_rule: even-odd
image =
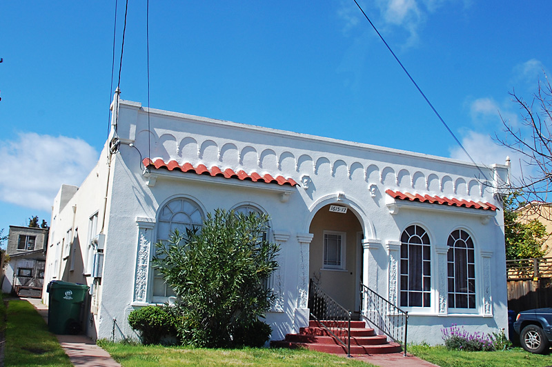
[{"label": "large white cloud low in the sky left of the house", "polygon": [[80,185],[97,159],[82,139],[24,132],[0,141],[0,200],[49,211],[61,184]]}]

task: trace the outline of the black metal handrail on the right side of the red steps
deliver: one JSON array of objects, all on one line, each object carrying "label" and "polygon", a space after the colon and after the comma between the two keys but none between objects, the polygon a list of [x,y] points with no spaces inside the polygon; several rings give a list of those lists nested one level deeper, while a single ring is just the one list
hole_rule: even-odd
[{"label": "black metal handrail on the right side of the red steps", "polygon": [[360,299],[362,299],[362,317],[393,341],[401,344],[406,355],[408,311],[400,309],[362,283]]}]

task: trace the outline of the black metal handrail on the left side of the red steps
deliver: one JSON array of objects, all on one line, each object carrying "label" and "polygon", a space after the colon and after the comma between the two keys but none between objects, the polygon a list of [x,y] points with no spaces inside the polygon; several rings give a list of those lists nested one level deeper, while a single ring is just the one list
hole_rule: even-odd
[{"label": "black metal handrail on the left side of the red steps", "polygon": [[351,357],[351,311],[328,296],[313,279],[308,287],[308,308],[311,319],[318,321],[322,328],[347,349],[347,357]]}]

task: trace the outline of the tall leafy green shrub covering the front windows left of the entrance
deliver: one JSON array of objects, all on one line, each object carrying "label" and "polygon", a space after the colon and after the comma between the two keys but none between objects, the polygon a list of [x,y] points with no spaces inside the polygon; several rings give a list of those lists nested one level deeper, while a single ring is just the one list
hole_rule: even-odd
[{"label": "tall leafy green shrub covering the front windows left of the entrance", "polygon": [[277,268],[276,244],[266,240],[268,216],[215,210],[201,230],[175,230],[158,242],[152,264],[177,295],[184,344],[211,348],[262,346],[261,321],[274,299],[266,284]]}]

